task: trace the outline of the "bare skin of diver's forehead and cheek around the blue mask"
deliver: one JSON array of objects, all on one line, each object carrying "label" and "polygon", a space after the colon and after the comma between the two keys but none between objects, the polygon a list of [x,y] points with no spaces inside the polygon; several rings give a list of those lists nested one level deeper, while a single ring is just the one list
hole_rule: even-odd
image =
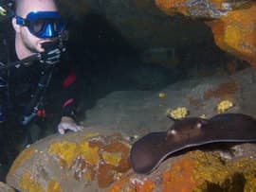
[{"label": "bare skin of diver's forehead and cheek around the blue mask", "polygon": [[[30,11],[57,11],[56,5],[53,0],[19,0],[21,1],[17,7],[17,15],[26,18]],[[20,39],[31,53],[44,52],[42,43],[52,41],[50,39],[40,39],[31,34],[27,26],[17,26],[19,30]]]}]

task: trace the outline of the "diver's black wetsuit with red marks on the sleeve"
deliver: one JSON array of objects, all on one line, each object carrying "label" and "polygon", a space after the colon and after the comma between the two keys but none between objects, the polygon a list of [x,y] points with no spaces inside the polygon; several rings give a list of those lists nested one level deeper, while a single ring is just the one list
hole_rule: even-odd
[{"label": "diver's black wetsuit with red marks on the sleeve", "polygon": [[[0,38],[0,61],[4,64],[17,61],[14,31],[10,25],[5,26],[5,31],[1,29]],[[77,80],[68,64],[70,62],[61,61],[52,67],[35,61],[29,66],[0,71],[0,153],[7,150],[4,147],[9,145],[7,141],[15,142],[17,132],[26,130],[25,118],[61,118],[63,115],[74,118]],[[42,88],[42,84],[46,88]]]}]

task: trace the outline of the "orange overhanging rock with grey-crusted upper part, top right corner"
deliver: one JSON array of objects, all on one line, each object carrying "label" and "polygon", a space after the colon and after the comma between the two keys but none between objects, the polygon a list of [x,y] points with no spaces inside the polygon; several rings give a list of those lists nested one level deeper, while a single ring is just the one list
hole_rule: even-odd
[{"label": "orange overhanging rock with grey-crusted upper part, top right corner", "polygon": [[255,1],[155,0],[155,5],[168,15],[205,19],[221,49],[256,67]]}]

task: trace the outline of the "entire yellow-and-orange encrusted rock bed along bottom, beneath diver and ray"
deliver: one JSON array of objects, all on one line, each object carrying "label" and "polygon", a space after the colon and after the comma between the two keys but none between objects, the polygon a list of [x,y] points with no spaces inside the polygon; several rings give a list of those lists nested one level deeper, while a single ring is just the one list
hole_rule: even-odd
[{"label": "entire yellow-and-orange encrusted rock bed along bottom, beneath diver and ray", "polygon": [[[222,149],[220,149],[222,148]],[[256,144],[214,144],[172,155],[150,174],[129,164],[120,134],[54,135],[26,148],[7,183],[26,191],[254,191]],[[200,149],[200,150],[199,150]]]}]

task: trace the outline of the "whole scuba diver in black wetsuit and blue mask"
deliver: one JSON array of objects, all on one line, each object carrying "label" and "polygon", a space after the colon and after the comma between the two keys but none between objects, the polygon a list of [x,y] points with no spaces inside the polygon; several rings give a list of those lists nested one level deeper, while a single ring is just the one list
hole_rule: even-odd
[{"label": "whole scuba diver in black wetsuit and blue mask", "polygon": [[65,26],[55,1],[0,0],[0,25],[0,154],[15,142],[16,130],[26,132],[32,119],[47,116],[47,90],[62,77],[58,131],[81,131],[75,121],[77,75],[59,63]]}]

